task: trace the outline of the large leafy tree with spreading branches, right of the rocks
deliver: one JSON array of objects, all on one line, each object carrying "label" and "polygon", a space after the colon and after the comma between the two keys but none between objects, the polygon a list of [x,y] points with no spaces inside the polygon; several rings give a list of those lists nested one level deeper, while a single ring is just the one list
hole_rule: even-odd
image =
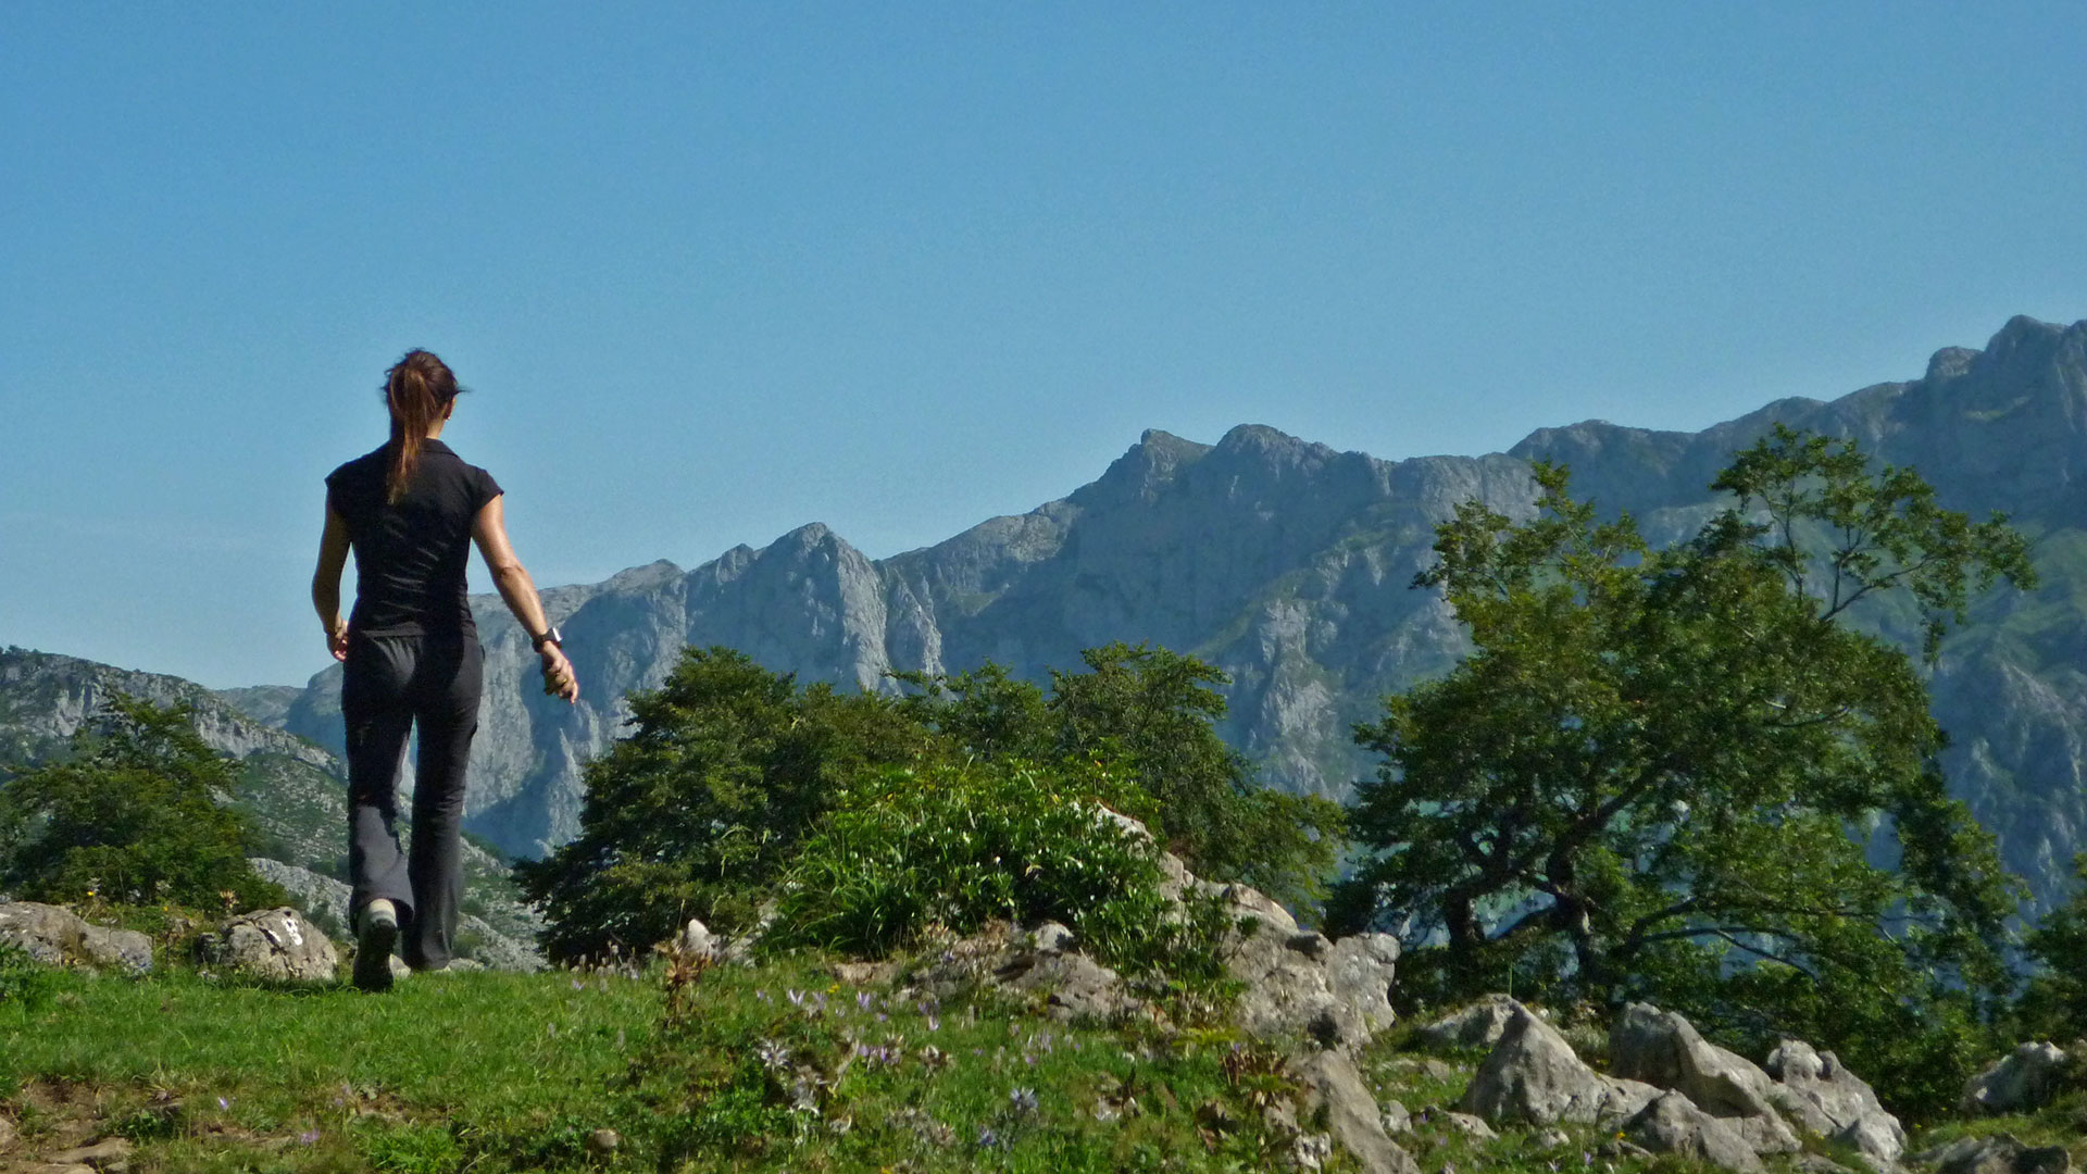
[{"label": "large leafy tree with spreading branches, right of the rocks", "polygon": [[[1601,522],[1565,468],[1536,483],[1526,522],[1473,501],[1436,531],[1415,585],[1444,591],[1476,654],[1357,727],[1384,756],[1350,813],[1375,854],[1334,921],[1432,942],[1402,967],[1409,996],[1513,976],[1732,1036],[1812,1034],[1851,1063],[1849,1024],[1956,1038],[2004,980],[2014,886],[1945,794],[1914,662],[1845,618],[1910,597],[1933,660],[1974,589],[2033,585],[2024,541],[1786,428],[1738,453],[1713,483],[1736,503],[1670,549]],[[1872,836],[1897,869],[1870,863]]]}]

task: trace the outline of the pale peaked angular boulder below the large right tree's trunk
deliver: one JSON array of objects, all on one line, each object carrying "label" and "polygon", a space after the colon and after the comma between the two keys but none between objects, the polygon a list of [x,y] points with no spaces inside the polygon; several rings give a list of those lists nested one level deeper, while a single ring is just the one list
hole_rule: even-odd
[{"label": "pale peaked angular boulder below the large right tree's trunk", "polygon": [[1634,1118],[1655,1097],[1659,1090],[1651,1084],[1615,1080],[1582,1063],[1565,1036],[1515,1003],[1501,1042],[1457,1107],[1492,1124],[1613,1126]]}]

